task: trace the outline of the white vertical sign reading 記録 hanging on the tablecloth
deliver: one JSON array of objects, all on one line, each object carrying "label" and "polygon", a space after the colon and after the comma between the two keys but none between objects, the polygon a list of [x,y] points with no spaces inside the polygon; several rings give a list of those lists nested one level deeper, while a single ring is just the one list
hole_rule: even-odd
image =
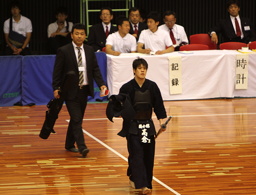
[{"label": "white vertical sign reading \u8a18\u9332 hanging on the tablecloth", "polygon": [[170,94],[182,94],[181,56],[169,56]]}]

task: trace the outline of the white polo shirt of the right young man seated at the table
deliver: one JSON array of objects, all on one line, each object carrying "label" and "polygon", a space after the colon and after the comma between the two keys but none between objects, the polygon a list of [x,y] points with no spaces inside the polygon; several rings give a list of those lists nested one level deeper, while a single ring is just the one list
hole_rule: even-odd
[{"label": "white polo shirt of the right young man seated at the table", "polygon": [[173,45],[170,35],[161,29],[152,33],[150,29],[142,30],[138,43],[143,43],[146,48],[150,48],[152,52],[162,51]]}]

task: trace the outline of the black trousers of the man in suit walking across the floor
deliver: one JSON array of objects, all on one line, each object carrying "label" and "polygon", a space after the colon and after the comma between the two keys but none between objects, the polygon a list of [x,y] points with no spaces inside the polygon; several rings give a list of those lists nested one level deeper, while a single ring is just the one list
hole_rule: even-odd
[{"label": "black trousers of the man in suit walking across the floor", "polygon": [[86,85],[83,89],[78,89],[77,96],[75,96],[74,99],[65,100],[66,107],[68,108],[70,115],[69,127],[66,133],[65,148],[74,148],[74,144],[77,142],[78,149],[81,153],[87,148],[84,143],[82,123],[84,111],[86,111],[88,93],[89,85]]}]

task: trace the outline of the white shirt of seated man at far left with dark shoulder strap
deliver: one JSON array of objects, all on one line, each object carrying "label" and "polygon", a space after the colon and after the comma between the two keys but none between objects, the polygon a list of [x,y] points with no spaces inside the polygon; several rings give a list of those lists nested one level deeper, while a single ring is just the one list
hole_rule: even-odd
[{"label": "white shirt of seated man at far left with dark shoulder strap", "polygon": [[[26,33],[32,33],[32,22],[25,16],[20,15],[20,21],[16,22],[14,20],[14,17],[12,18],[12,30],[22,34],[23,36],[26,37]],[[3,31],[6,34],[10,33],[10,19],[5,21],[5,24],[3,25]],[[14,45],[12,45],[14,46]],[[16,47],[16,46],[14,46]],[[29,47],[29,44],[26,46]]]}]

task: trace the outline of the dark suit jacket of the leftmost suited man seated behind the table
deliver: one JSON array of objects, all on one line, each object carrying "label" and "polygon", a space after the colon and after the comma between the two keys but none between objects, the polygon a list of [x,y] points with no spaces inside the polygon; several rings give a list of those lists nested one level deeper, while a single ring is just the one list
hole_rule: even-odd
[{"label": "dark suit jacket of the leftmost suited man seated behind the table", "polygon": [[[109,34],[115,33],[116,31],[118,31],[118,28],[111,25]],[[92,46],[95,52],[97,52],[98,49],[102,51],[102,48],[106,46],[106,33],[102,23],[93,25],[89,28],[87,44]]]}]

